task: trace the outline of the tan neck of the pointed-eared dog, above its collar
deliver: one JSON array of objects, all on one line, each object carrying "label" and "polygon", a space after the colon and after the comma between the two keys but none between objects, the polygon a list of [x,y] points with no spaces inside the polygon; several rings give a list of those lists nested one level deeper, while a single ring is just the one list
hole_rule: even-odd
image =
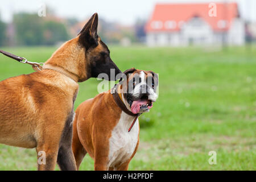
[{"label": "tan neck of the pointed-eared dog, above its collar", "polygon": [[64,43],[46,61],[46,64],[61,67],[79,77],[79,81],[87,80],[90,74],[86,72],[85,48],[79,42],[79,37]]}]

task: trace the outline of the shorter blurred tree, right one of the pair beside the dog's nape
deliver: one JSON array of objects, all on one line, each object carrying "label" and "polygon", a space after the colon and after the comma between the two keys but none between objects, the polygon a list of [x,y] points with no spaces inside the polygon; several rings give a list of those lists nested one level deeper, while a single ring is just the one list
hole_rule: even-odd
[{"label": "shorter blurred tree, right one of the pair beside the dog's nape", "polygon": [[43,43],[50,46],[57,42],[67,41],[69,39],[67,28],[63,23],[52,20],[44,23]]}]

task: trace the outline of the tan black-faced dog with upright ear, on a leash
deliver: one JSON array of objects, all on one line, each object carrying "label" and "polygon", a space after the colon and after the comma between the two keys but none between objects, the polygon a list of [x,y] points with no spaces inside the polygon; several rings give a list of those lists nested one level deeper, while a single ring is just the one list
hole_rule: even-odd
[{"label": "tan black-faced dog with upright ear, on a leash", "polygon": [[[0,143],[46,154],[38,169],[76,170],[72,153],[73,105],[79,84],[110,68],[121,73],[97,35],[94,14],[77,38],[64,43],[42,71],[0,82]],[[74,78],[74,81],[72,78]],[[44,153],[45,152],[45,153]]]}]

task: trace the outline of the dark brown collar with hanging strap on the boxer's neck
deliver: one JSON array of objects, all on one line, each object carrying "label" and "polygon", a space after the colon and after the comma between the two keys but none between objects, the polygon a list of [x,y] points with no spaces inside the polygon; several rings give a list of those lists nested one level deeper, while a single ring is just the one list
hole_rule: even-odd
[{"label": "dark brown collar with hanging strap on the boxer's neck", "polygon": [[115,103],[120,107],[120,109],[122,111],[124,111],[126,114],[131,115],[131,116],[135,116],[133,123],[131,123],[131,126],[128,130],[128,132],[131,131],[131,129],[133,128],[134,123],[137,121],[138,117],[141,115],[141,113],[139,114],[133,114],[130,110],[127,109],[127,107],[125,106],[125,104],[123,104],[123,101],[121,100],[121,98],[118,96],[118,93],[116,92],[116,88],[117,88],[117,84],[115,84],[113,90],[112,90],[112,96],[115,100]]}]

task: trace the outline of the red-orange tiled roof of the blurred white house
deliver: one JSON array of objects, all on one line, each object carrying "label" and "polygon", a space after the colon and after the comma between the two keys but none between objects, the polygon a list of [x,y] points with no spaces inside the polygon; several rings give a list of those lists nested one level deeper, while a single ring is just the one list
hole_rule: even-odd
[{"label": "red-orange tiled roof of the blurred white house", "polygon": [[[180,24],[187,22],[194,16],[199,16],[205,22],[208,22],[214,31],[229,30],[232,20],[238,16],[237,3],[216,3],[216,17],[209,16],[209,3],[191,3],[191,4],[157,4],[146,24],[146,31],[179,31]],[[226,27],[218,26],[222,21],[226,22]],[[174,24],[171,28],[166,26],[166,22],[171,21]],[[152,27],[152,22],[158,23],[158,28]],[[223,21],[222,21],[223,22]]]}]

